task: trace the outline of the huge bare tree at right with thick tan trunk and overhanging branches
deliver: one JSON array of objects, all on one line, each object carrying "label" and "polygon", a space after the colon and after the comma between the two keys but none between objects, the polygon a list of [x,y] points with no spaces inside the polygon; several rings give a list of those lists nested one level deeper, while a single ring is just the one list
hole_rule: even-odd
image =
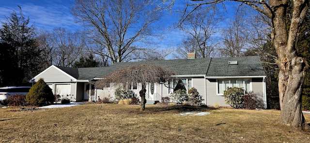
[{"label": "huge bare tree at right with thick tan trunk and overhanging branches", "polygon": [[[174,1],[174,0],[173,0]],[[192,0],[203,1],[187,5],[193,12],[204,4],[220,3],[225,0]],[[302,85],[309,65],[298,55],[300,28],[307,15],[309,0],[233,0],[248,5],[266,15],[272,22],[271,42],[277,52],[279,66],[279,100],[281,114],[279,122],[291,125],[296,129],[310,130],[301,111]],[[286,17],[289,3],[293,3],[291,17]],[[186,16],[185,16],[186,17]],[[289,18],[289,19],[287,19]],[[287,27],[287,21],[290,21]]]}]

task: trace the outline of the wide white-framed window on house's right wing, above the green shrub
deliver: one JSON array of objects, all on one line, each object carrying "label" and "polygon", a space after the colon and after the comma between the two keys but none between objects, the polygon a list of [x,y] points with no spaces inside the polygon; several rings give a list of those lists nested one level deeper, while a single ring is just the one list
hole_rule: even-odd
[{"label": "wide white-framed window on house's right wing, above the green shrub", "polygon": [[250,79],[218,79],[217,94],[223,95],[227,87],[243,87],[245,91],[250,91]]}]

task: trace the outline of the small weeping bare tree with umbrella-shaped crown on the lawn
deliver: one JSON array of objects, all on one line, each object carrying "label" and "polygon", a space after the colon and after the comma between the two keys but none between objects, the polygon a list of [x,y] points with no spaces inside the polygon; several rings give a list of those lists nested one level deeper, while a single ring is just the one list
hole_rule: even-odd
[{"label": "small weeping bare tree with umbrella-shaped crown on the lawn", "polygon": [[141,97],[140,111],[145,110],[145,92],[147,83],[163,83],[171,75],[174,75],[168,69],[162,68],[154,64],[141,64],[136,66],[128,66],[123,69],[111,72],[104,79],[96,82],[96,87],[102,88],[105,84],[113,83],[113,85],[126,85],[127,83],[141,83],[142,89],[139,94]]}]

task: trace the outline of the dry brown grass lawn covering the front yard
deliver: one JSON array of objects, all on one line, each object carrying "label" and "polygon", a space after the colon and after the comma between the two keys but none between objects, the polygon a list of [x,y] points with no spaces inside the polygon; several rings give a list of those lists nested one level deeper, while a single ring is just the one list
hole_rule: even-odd
[{"label": "dry brown grass lawn covering the front yard", "polygon": [[[277,110],[85,104],[34,112],[0,109],[1,143],[309,143],[277,123]],[[205,116],[181,115],[209,112]],[[310,115],[305,114],[310,121]]]}]

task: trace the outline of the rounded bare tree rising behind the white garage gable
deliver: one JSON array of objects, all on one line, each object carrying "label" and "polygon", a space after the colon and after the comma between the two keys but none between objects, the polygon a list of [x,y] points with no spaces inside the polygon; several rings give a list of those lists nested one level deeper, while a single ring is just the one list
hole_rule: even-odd
[{"label": "rounded bare tree rising behind the white garage gable", "polygon": [[85,38],[78,32],[69,32],[63,28],[53,29],[47,35],[40,36],[42,48],[45,48],[47,63],[71,67],[85,52]]}]

